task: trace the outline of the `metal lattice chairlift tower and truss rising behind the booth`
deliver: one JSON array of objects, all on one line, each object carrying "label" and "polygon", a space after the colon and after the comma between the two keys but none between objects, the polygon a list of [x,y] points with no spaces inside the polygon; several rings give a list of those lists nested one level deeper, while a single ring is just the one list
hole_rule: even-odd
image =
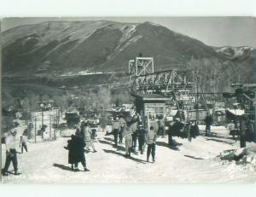
[{"label": "metal lattice chairlift tower and truss rising behind the booth", "polygon": [[[191,120],[191,114],[189,119],[187,119],[188,117],[182,116],[184,112],[188,116],[189,113],[196,113],[194,119],[197,121],[204,119],[206,113],[209,112],[203,90],[201,89],[201,80],[194,70],[181,71],[170,69],[154,72],[153,57],[137,57],[135,60],[129,61],[129,73],[131,95],[136,98],[142,98],[143,96],[147,98],[147,95],[157,95],[155,97],[158,102],[160,101],[159,96],[168,98],[169,101],[175,103],[180,118],[188,121],[189,119]],[[154,101],[155,103],[157,103],[156,100]],[[166,99],[161,99],[161,101],[166,101]],[[204,114],[201,114],[202,110],[198,107],[200,101],[206,107],[206,110],[203,110]]]}]

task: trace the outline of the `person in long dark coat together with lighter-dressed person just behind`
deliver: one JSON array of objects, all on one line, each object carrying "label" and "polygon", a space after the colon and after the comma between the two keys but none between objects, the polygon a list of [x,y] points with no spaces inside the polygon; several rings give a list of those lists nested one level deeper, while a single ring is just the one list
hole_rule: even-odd
[{"label": "person in long dark coat together with lighter-dressed person just behind", "polygon": [[71,140],[67,141],[68,163],[71,164],[73,171],[79,171],[80,162],[84,167],[84,171],[89,171],[84,154],[86,151],[89,152],[90,148],[93,149],[93,153],[96,153],[90,125],[82,121],[81,125],[77,126],[75,135],[72,135]]}]

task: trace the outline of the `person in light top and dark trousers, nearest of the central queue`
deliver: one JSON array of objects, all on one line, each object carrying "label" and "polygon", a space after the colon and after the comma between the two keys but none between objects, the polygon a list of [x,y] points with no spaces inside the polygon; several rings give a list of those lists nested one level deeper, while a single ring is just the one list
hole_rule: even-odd
[{"label": "person in light top and dark trousers, nearest of the central queue", "polygon": [[155,142],[156,142],[157,135],[154,132],[154,127],[150,126],[147,135],[147,144],[148,144],[148,151],[147,151],[147,162],[149,160],[150,154],[152,155],[153,163],[155,162]]}]

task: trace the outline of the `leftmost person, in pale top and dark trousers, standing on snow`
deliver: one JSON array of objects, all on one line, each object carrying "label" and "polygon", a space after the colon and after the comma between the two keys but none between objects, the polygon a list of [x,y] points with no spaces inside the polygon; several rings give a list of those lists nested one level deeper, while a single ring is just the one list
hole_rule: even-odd
[{"label": "leftmost person, in pale top and dark trousers, standing on snow", "polygon": [[5,146],[6,146],[6,159],[5,165],[3,168],[3,176],[8,176],[8,169],[9,165],[12,162],[15,168],[15,175],[19,175],[18,172],[18,159],[17,159],[17,151],[16,148],[18,146],[18,139],[17,139],[17,130],[11,130],[10,135],[5,139]]}]

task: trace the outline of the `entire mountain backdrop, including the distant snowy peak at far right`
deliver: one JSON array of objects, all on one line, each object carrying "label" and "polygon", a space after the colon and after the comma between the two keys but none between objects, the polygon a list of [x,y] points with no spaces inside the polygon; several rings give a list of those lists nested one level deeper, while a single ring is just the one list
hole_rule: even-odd
[{"label": "entire mountain backdrop, including the distant snowy peak at far right", "polygon": [[[143,53],[154,57],[156,71],[196,68],[206,81],[214,73],[220,88],[238,79],[256,82],[256,49],[207,46],[151,22],[48,21],[18,26],[3,32],[2,51],[3,78],[127,72],[128,61]],[[196,60],[194,66],[191,60]]]}]

